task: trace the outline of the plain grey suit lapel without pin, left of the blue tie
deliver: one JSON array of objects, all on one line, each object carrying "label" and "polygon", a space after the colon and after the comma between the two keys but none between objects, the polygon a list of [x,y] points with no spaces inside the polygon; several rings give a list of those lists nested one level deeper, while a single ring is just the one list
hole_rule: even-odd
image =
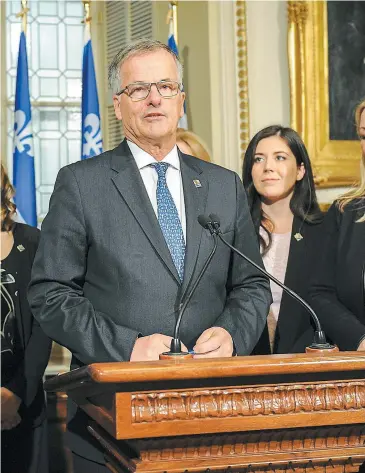
[{"label": "plain grey suit lapel without pin, left of the blue tie", "polygon": [[180,283],[179,275],[172,261],[170,251],[166,245],[141,174],[126,140],[113,151],[111,168],[118,173],[112,177],[112,181],[123,200],[133,213],[166,267]]}]

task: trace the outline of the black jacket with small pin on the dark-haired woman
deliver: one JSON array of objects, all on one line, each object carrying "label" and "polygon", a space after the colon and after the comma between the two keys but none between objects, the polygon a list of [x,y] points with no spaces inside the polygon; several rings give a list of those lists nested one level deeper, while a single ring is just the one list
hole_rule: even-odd
[{"label": "black jacket with small pin on the dark-haired woman", "polygon": [[[294,217],[289,257],[284,284],[308,302],[308,290],[313,268],[318,257],[318,247],[322,238],[322,225],[310,224]],[[294,235],[303,236],[297,241]],[[274,353],[304,353],[313,342],[314,325],[309,313],[291,296],[283,292],[276,327]],[[267,324],[255,346],[253,355],[270,354]]]}]

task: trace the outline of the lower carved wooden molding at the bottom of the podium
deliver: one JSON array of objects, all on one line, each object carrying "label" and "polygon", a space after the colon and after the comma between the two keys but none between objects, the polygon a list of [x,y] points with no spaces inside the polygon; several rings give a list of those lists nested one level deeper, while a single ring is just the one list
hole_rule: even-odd
[{"label": "lower carved wooden molding at the bottom of the podium", "polygon": [[116,465],[111,470],[118,472],[349,473],[357,472],[365,460],[365,426],[359,424],[145,438],[128,443],[104,438],[97,425],[89,426],[89,431]]}]

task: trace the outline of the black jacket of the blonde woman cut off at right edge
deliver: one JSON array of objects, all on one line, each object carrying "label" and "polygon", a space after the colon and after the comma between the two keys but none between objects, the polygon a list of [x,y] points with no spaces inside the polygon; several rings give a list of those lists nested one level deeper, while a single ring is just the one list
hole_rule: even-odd
[{"label": "black jacket of the blonde woman cut off at right edge", "polygon": [[357,350],[365,337],[364,200],[340,212],[334,203],[324,224],[324,240],[310,302],[323,329],[340,350]]}]

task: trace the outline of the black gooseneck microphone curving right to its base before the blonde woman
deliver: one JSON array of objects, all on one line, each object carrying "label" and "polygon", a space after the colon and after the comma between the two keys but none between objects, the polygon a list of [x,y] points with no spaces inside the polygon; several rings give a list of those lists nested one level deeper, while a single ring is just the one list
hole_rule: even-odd
[{"label": "black gooseneck microphone curving right to its base before the blonde woman", "polygon": [[314,340],[312,344],[309,346],[310,350],[334,350],[336,347],[334,345],[331,345],[330,343],[327,342],[326,336],[322,330],[321,324],[319,322],[319,319],[317,317],[317,314],[314,312],[312,307],[305,302],[304,299],[302,299],[296,292],[293,290],[289,289],[285,284],[283,284],[281,281],[276,279],[274,276],[272,276],[270,273],[265,271],[263,268],[261,268],[257,263],[252,261],[248,256],[244,255],[241,253],[237,248],[234,246],[230,245],[227,241],[222,236],[222,232],[220,229],[220,219],[217,215],[215,214],[210,214],[209,218],[202,216],[201,219],[198,219],[199,223],[202,225],[202,227],[206,228],[207,230],[210,231],[211,235],[216,235],[218,238],[221,240],[222,243],[224,243],[228,248],[230,248],[234,253],[237,255],[241,256],[244,260],[246,260],[248,263],[250,263],[252,266],[254,266],[260,273],[265,275],[268,279],[271,281],[274,281],[278,286],[280,286],[283,291],[285,291],[287,294],[289,294],[293,299],[295,299],[299,304],[301,304],[310,314],[311,319],[313,320],[315,324],[315,332],[314,332]]}]

